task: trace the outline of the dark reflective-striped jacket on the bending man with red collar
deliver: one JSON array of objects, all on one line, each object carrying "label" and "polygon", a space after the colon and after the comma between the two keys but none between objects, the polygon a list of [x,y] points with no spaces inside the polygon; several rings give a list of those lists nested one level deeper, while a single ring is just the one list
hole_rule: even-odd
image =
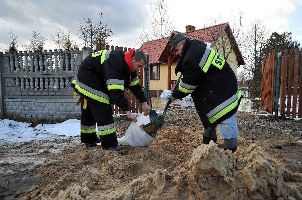
[{"label": "dark reflective-striped jacket on the bending man with red collar", "polygon": [[102,50],[92,53],[81,63],[71,87],[82,97],[104,108],[110,108],[110,104],[115,103],[123,111],[129,110],[125,88],[130,89],[139,102],[146,101],[136,71],[129,72],[124,51]]}]

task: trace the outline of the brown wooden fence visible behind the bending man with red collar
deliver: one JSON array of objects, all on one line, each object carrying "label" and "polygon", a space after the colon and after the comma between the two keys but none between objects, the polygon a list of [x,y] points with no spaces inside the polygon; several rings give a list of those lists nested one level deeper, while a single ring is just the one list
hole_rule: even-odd
[{"label": "brown wooden fence visible behind the bending man with red collar", "polygon": [[[126,47],[118,47],[118,46],[109,46],[109,45],[100,45],[97,44],[96,45],[96,50],[94,51],[100,51],[100,50],[122,50],[122,51],[128,51],[131,48],[126,48]],[[147,62],[148,63],[148,62]],[[137,73],[137,78],[139,80],[139,85],[143,86],[142,80],[143,80],[143,73],[138,72]],[[133,95],[133,93],[129,90],[126,89],[125,90],[125,97],[128,101],[129,107],[130,107],[130,111],[132,113],[141,113],[142,112],[142,105],[141,103],[138,101],[138,99],[136,99],[136,97]],[[112,107],[112,112],[113,114],[124,114],[122,109],[120,109],[116,104],[111,105]]]}]

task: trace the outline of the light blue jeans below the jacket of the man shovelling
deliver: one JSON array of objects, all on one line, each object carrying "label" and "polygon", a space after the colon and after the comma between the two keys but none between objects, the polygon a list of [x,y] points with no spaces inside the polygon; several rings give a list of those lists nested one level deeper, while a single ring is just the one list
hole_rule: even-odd
[{"label": "light blue jeans below the jacket of the man shovelling", "polygon": [[[234,113],[228,119],[222,121],[219,125],[221,134],[224,139],[233,139],[238,136],[237,117]],[[216,127],[207,127],[207,130],[216,130]]]}]

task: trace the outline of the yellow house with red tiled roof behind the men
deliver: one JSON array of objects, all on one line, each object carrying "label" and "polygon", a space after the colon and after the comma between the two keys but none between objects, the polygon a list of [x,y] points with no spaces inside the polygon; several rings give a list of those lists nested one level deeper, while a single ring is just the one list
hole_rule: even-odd
[{"label": "yellow house with red tiled roof behind the men", "polygon": [[[243,56],[236,43],[229,23],[215,25],[204,29],[195,30],[191,25],[186,26],[183,33],[189,39],[211,43],[211,47],[223,56],[237,74],[237,68],[245,65]],[[178,58],[170,53],[168,41],[178,31],[172,31],[170,37],[145,42],[139,48],[149,54],[150,63],[150,92],[152,95],[160,95],[164,90],[172,90],[180,73],[175,75],[175,67]]]}]

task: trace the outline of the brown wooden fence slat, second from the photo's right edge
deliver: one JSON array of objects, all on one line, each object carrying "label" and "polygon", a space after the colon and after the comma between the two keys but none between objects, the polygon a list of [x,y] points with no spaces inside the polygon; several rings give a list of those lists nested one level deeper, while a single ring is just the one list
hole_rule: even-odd
[{"label": "brown wooden fence slat, second from the photo's right edge", "polygon": [[296,118],[297,113],[297,93],[298,93],[298,70],[299,70],[299,49],[294,50],[294,66],[293,66],[293,91],[292,91],[292,112],[291,117]]}]

